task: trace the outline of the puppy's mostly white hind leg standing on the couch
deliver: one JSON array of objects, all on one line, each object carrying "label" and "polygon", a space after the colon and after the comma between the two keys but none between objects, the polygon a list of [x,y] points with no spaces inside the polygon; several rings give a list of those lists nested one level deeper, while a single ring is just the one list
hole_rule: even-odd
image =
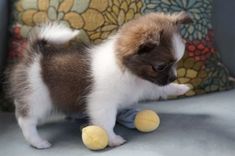
[{"label": "puppy's mostly white hind leg standing on the couch", "polygon": [[[37,131],[38,121],[47,117],[52,110],[49,90],[41,75],[40,56],[35,56],[34,62],[26,72],[27,81],[24,79],[22,82],[18,78],[17,85],[13,87],[16,117],[25,139],[32,146],[38,149],[49,148],[51,144],[43,140]],[[22,111],[22,108],[25,111]]]}]

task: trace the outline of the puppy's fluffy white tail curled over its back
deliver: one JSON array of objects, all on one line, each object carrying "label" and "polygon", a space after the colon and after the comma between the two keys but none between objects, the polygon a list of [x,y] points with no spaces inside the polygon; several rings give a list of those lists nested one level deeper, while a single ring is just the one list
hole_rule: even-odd
[{"label": "puppy's fluffy white tail curled over its back", "polygon": [[29,34],[29,44],[31,46],[41,43],[64,44],[69,42],[79,34],[78,30],[72,30],[59,23],[47,23],[35,27]]}]

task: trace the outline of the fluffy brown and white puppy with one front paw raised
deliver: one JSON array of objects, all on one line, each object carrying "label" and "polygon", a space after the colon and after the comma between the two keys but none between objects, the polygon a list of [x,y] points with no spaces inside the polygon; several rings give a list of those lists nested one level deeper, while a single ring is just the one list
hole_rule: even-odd
[{"label": "fluffy brown and white puppy with one front paw raised", "polygon": [[50,147],[36,126],[56,109],[87,113],[91,124],[107,131],[110,146],[123,144],[113,131],[118,110],[189,90],[172,83],[185,49],[178,29],[189,22],[185,13],[151,13],[89,48],[67,46],[79,32],[60,24],[35,28],[24,57],[9,75],[9,94],[25,139],[39,149]]}]

